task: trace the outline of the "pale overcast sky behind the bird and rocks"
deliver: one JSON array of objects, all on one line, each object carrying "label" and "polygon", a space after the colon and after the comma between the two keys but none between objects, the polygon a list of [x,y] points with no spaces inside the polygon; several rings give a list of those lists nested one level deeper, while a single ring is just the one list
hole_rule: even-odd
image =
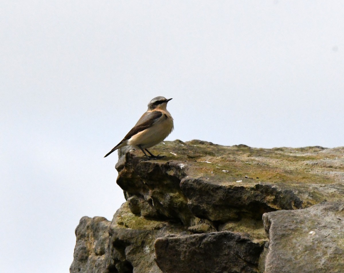
[{"label": "pale overcast sky behind the bird and rocks", "polygon": [[167,140],[344,146],[344,2],[1,1],[0,272],[68,272],[155,96]]}]

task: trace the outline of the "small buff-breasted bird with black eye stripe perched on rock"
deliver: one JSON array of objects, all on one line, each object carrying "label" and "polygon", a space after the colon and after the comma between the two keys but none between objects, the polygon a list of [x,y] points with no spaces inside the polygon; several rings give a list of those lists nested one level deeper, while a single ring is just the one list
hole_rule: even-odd
[{"label": "small buff-breasted bird with black eye stripe perched on rock", "polygon": [[[166,110],[167,103],[172,99],[156,97],[148,103],[148,110],[144,113],[129,133],[118,143],[105,157],[117,149],[132,145],[140,148],[149,159],[162,158],[154,156],[147,148],[157,145],[163,141],[173,130],[173,118]],[[145,152],[149,153],[149,156]]]}]

